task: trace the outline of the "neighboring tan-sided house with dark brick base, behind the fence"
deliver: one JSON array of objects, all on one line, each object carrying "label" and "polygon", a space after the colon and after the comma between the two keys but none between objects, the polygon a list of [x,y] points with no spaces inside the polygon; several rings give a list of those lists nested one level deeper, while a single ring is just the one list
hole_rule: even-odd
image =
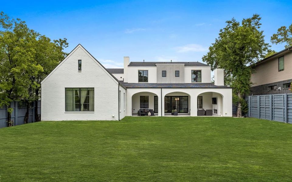
[{"label": "neighboring tan-sided house with dark brick base, behind the fence", "polygon": [[250,95],[291,93],[292,46],[255,64]]}]

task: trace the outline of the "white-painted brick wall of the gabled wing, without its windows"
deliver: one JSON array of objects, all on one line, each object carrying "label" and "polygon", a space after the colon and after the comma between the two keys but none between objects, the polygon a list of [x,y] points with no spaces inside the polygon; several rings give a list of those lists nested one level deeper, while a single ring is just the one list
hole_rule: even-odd
[{"label": "white-painted brick wall of the gabled wing, without its windows", "polygon": [[[81,72],[78,59],[82,60]],[[42,120],[118,120],[118,83],[81,45],[43,80],[41,87]],[[94,88],[94,112],[65,112],[65,88],[74,87]],[[120,90],[123,97],[125,89]]]}]

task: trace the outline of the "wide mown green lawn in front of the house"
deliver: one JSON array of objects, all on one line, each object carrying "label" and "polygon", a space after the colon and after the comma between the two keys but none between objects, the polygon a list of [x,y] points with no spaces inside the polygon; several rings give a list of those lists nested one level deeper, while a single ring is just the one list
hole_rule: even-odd
[{"label": "wide mown green lawn in front of the house", "polygon": [[0,129],[0,181],[291,181],[292,125],[126,117]]}]

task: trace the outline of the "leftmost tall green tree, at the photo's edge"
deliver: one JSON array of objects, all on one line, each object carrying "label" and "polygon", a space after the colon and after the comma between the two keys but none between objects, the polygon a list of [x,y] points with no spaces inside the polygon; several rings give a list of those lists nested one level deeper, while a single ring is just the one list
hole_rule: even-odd
[{"label": "leftmost tall green tree, at the photo's edge", "polygon": [[0,105],[7,106],[11,123],[11,102],[27,97],[29,78],[42,67],[33,61],[33,40],[38,34],[20,19],[10,19],[3,12],[0,15]]}]

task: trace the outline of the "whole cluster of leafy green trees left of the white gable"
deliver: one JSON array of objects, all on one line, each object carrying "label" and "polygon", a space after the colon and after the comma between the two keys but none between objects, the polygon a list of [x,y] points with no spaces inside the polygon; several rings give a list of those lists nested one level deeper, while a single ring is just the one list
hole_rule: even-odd
[{"label": "whole cluster of leafy green trees left of the white gable", "polygon": [[28,108],[39,99],[40,81],[64,59],[66,46],[66,39],[51,41],[0,12],[0,105],[7,106],[8,122],[12,101],[22,100]]}]

